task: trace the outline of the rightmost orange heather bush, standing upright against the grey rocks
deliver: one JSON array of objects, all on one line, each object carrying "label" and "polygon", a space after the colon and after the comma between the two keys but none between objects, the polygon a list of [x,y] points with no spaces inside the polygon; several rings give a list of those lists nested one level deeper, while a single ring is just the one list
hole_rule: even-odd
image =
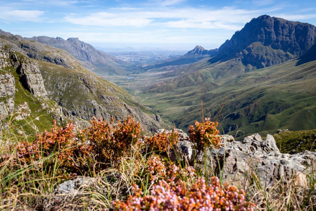
[{"label": "rightmost orange heather bush, standing upright against the grey rocks", "polygon": [[189,126],[190,140],[197,145],[197,154],[206,147],[219,148],[221,139],[218,136],[219,130],[216,129],[218,122],[210,121],[205,118],[204,122],[195,121],[194,126]]}]

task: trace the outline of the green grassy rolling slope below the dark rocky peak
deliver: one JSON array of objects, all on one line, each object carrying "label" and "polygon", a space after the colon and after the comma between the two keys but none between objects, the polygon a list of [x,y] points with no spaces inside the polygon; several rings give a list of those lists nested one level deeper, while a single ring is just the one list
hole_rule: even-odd
[{"label": "green grassy rolling slope below the dark rocky peak", "polygon": [[163,74],[156,70],[147,72],[147,76],[142,73],[137,80],[121,85],[127,88],[130,83],[130,93],[136,89],[140,102],[185,130],[201,119],[201,99],[204,116],[220,121],[222,133],[235,135],[242,130],[245,135],[265,135],[279,128],[313,129],[316,61],[296,66],[297,62],[291,60],[245,73],[246,67],[236,60],[211,67],[204,60]]}]

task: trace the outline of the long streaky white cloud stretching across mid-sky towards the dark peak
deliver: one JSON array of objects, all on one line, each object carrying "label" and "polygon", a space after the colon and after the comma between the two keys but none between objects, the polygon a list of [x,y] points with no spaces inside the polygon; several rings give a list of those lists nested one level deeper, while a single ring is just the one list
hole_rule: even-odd
[{"label": "long streaky white cloud stretching across mid-sky towards the dark peak", "polygon": [[253,17],[261,15],[260,10],[244,10],[234,7],[221,9],[197,8],[112,8],[106,12],[88,16],[71,14],[66,22],[90,26],[131,26],[168,28],[219,28],[237,30]]}]

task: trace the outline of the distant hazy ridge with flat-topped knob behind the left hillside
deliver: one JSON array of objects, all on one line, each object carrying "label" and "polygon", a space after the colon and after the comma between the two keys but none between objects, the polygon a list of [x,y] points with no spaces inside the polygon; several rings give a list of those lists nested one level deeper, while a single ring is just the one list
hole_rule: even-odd
[{"label": "distant hazy ridge with flat-topped knob behind the left hillside", "polygon": [[99,75],[105,75],[107,73],[113,75],[128,72],[127,66],[129,63],[114,56],[102,53],[101,51],[95,49],[92,45],[80,41],[78,38],[68,38],[67,40],[64,40],[61,37],[53,38],[39,36],[24,39],[64,49],[78,59],[85,68]]}]

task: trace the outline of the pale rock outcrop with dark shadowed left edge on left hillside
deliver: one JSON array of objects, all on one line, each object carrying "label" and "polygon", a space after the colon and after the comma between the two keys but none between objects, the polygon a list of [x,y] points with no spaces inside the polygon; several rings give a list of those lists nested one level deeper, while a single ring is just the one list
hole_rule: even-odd
[{"label": "pale rock outcrop with dark shadowed left edge on left hillside", "polygon": [[18,74],[21,74],[21,83],[36,97],[47,96],[44,87],[44,81],[37,63],[31,60],[25,60],[17,69]]}]

